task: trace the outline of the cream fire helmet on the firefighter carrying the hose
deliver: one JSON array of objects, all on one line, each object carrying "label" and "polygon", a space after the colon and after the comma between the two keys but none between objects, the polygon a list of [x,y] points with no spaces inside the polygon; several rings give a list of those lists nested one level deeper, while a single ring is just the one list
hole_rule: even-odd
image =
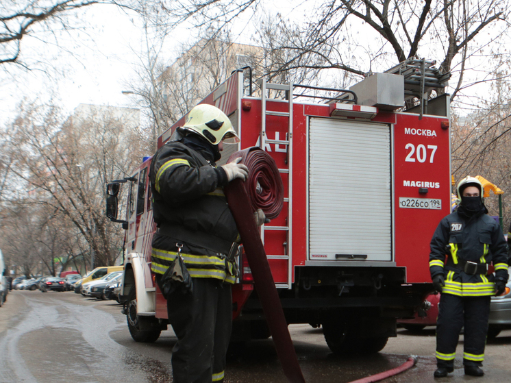
[{"label": "cream fire helmet on the firefighter carrying the hose", "polygon": [[229,117],[216,106],[207,103],[201,103],[190,110],[182,129],[200,134],[212,145],[218,145],[221,141],[226,144],[240,142]]}]

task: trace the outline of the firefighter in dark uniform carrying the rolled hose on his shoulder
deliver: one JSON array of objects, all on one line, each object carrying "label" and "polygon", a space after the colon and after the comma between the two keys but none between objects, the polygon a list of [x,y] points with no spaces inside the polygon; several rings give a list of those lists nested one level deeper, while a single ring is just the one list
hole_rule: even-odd
[{"label": "firefighter in dark uniform carrying the rolled hose on his shoulder", "polygon": [[175,383],[223,382],[239,236],[222,188],[248,175],[247,166],[238,161],[216,166],[227,139],[238,141],[229,118],[201,104],[151,163],[158,225],[151,270],[162,288],[162,275],[180,254],[192,280],[189,291],[176,290],[166,297],[177,336],[172,354]]}]

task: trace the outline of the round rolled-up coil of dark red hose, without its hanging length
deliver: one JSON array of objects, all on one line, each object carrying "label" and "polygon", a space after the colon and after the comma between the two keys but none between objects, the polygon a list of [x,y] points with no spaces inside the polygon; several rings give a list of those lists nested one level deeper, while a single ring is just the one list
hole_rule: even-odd
[{"label": "round rolled-up coil of dark red hose, without its hanging length", "polygon": [[233,153],[227,162],[238,157],[249,168],[245,190],[252,210],[262,209],[266,218],[277,218],[284,205],[284,185],[275,160],[259,147],[249,147]]}]

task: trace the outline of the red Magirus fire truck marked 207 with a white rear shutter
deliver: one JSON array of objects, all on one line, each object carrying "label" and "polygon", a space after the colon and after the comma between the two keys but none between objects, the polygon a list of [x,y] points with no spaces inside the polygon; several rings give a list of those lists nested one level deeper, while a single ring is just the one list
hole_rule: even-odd
[{"label": "red Magirus fire truck marked 207 with a white rear shutter", "polygon": [[[279,167],[284,208],[261,237],[286,320],[321,325],[334,352],[379,351],[396,336],[397,319],[413,317],[432,290],[429,240],[451,207],[449,95],[438,91],[445,76],[412,61],[349,90],[261,79],[258,97],[245,95],[243,76],[236,71],[201,103],[223,110],[240,136],[219,164],[259,146]],[[428,97],[433,90],[440,96]],[[319,99],[319,92],[335,95]],[[412,99],[419,105],[410,107]],[[150,271],[150,162],[107,186],[107,215],[126,229],[127,323],[143,342],[167,325]],[[125,221],[116,219],[122,183],[129,186]],[[232,341],[268,337],[245,254],[238,263]]]}]

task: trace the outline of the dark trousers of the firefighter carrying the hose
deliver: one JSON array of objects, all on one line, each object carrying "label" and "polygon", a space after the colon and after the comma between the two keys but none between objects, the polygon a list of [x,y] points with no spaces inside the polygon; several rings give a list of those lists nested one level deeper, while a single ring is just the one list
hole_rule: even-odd
[{"label": "dark trousers of the firefighter carrying the hose", "polygon": [[223,383],[232,329],[231,285],[192,278],[193,293],[167,297],[169,322],[177,336],[172,350],[174,383]]}]

